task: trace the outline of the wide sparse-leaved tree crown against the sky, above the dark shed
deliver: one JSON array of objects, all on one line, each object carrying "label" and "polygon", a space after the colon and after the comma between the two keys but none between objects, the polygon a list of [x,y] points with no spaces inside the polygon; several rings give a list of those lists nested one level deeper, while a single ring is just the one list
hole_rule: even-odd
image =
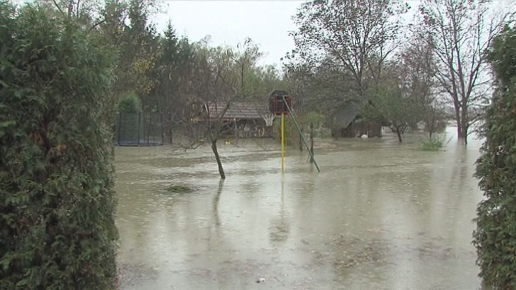
[{"label": "wide sparse-leaved tree crown against the sky, above the dark shed", "polygon": [[[367,82],[378,82],[384,62],[398,45],[398,0],[312,1],[302,4],[292,33],[298,55],[309,67],[331,64],[353,84],[351,98],[363,98]],[[292,55],[287,55],[293,58]]]}]

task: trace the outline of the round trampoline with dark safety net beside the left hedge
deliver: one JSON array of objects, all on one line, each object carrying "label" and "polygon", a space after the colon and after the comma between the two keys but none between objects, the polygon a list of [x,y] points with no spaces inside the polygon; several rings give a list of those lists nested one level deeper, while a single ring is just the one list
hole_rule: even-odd
[{"label": "round trampoline with dark safety net beside the left hedge", "polygon": [[166,142],[163,114],[119,113],[115,124],[118,146],[158,146]]}]

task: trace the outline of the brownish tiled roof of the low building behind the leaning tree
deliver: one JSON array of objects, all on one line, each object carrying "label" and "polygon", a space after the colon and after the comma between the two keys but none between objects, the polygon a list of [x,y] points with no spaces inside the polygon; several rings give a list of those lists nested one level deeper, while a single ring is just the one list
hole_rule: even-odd
[{"label": "brownish tiled roof of the low building behind the leaning tree", "polygon": [[[216,118],[224,110],[228,103],[210,103],[207,106],[210,118]],[[217,114],[218,112],[218,114]],[[225,112],[223,119],[262,119],[264,114],[268,114],[269,109],[266,104],[231,102],[229,109]],[[270,114],[270,113],[269,113]]]}]

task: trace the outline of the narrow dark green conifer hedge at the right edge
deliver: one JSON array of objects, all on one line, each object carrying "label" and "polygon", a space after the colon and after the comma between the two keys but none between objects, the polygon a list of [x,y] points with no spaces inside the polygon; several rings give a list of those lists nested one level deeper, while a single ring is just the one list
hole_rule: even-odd
[{"label": "narrow dark green conifer hedge at the right edge", "polygon": [[486,113],[486,142],[476,176],[485,200],[477,207],[480,277],[496,289],[516,288],[516,34],[508,29],[491,47],[499,86]]}]

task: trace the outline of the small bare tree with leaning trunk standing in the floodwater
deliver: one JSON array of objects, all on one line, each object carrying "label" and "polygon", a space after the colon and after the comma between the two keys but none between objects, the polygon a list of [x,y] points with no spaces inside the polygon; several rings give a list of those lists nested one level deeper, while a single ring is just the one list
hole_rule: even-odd
[{"label": "small bare tree with leaning trunk standing in the floodwater", "polygon": [[[227,133],[235,132],[234,120],[226,113],[236,105],[235,101],[248,99],[245,91],[251,86],[243,78],[256,69],[256,61],[262,53],[250,39],[239,45],[236,52],[230,47],[211,47],[208,43],[209,36],[194,45],[192,68],[181,82],[179,92],[185,104],[180,125],[186,144],[180,145],[185,149],[196,148],[202,143],[200,139],[209,142],[220,178],[225,179],[217,141]],[[254,96],[249,95],[251,97]]]}]

